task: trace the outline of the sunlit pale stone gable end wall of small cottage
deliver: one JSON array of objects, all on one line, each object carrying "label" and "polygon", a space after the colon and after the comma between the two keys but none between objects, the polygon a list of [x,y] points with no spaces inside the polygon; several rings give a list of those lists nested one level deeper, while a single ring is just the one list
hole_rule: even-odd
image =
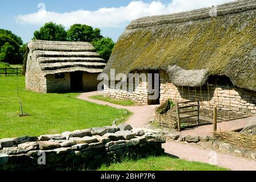
[{"label": "sunlit pale stone gable end wall of small cottage", "polygon": [[36,55],[31,51],[27,55],[26,89],[35,92],[47,92],[46,78],[43,76]]}]

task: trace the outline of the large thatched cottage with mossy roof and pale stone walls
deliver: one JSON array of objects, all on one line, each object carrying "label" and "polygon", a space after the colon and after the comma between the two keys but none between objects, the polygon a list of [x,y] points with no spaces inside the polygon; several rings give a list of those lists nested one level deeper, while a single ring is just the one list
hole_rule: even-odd
[{"label": "large thatched cottage with mossy roof and pale stone walls", "polygon": [[103,73],[159,73],[159,98],[148,82],[133,92],[105,85],[105,96],[143,104],[199,100],[240,114],[256,113],[256,1],[243,0],[133,20]]}]

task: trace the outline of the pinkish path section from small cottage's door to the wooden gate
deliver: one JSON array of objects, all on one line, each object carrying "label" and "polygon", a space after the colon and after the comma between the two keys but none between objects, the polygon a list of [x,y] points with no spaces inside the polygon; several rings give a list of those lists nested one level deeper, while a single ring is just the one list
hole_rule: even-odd
[{"label": "pinkish path section from small cottage's door to the wooden gate", "polygon": [[80,96],[78,96],[79,99],[89,101],[89,102],[94,102],[95,104],[100,104],[100,105],[108,105],[111,107],[115,107],[118,109],[127,109],[133,113],[131,117],[127,120],[127,124],[133,126],[133,127],[145,127],[149,120],[154,116],[155,114],[155,106],[150,105],[150,106],[121,106],[121,105],[116,105],[116,104],[111,104],[109,102],[104,102],[104,101],[99,101],[99,100],[93,100],[90,99],[90,96],[95,96],[103,94],[102,92],[86,92],[82,93]]}]

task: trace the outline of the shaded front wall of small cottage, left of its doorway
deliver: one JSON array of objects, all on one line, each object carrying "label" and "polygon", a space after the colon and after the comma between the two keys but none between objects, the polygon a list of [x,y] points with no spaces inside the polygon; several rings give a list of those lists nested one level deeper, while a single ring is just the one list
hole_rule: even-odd
[{"label": "shaded front wall of small cottage, left of its doorway", "polygon": [[61,79],[55,79],[54,75],[46,76],[47,93],[70,92],[70,73],[64,74]]}]

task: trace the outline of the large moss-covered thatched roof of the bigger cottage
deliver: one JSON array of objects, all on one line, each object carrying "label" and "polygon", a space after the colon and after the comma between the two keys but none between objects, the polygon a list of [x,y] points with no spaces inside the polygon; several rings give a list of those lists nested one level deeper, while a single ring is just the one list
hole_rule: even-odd
[{"label": "large moss-covered thatched roof of the bigger cottage", "polygon": [[178,86],[226,75],[256,90],[256,0],[134,20],[119,38],[103,72],[165,70]]}]

